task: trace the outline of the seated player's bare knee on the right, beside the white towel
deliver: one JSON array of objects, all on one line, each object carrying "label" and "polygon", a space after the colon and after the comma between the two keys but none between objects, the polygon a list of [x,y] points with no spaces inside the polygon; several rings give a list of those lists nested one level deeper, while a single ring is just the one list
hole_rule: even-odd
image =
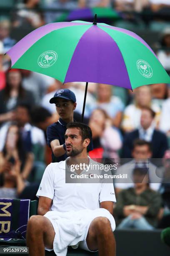
[{"label": "seated player's bare knee on the right, beside the white towel", "polygon": [[95,218],[95,230],[97,234],[103,234],[110,233],[111,231],[111,225],[110,220],[108,220],[106,217],[97,217]]}]

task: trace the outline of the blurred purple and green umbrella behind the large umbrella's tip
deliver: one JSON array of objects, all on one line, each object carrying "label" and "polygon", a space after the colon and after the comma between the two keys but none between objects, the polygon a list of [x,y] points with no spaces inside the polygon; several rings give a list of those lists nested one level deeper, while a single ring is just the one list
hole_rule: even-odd
[{"label": "blurred purple and green umbrella behind the large umbrella's tip", "polygon": [[92,7],[80,8],[65,12],[58,17],[55,22],[71,21],[71,20],[86,20],[91,21],[94,15],[97,14],[97,20],[117,20],[122,18],[120,13],[108,7]]}]

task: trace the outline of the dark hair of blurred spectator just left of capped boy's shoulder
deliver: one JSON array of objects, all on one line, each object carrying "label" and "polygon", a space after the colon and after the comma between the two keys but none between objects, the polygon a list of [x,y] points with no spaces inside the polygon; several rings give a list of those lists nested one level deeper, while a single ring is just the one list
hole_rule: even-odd
[{"label": "dark hair of blurred spectator just left of capped boy's shoulder", "polygon": [[45,122],[52,114],[46,108],[35,107],[31,110],[31,121],[33,124]]}]

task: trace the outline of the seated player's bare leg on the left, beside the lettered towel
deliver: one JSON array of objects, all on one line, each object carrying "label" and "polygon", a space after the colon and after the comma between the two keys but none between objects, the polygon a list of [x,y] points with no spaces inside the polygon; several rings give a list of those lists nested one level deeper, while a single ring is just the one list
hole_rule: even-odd
[{"label": "seated player's bare leg on the left, beside the lettered towel", "polygon": [[30,256],[45,256],[44,247],[53,248],[54,228],[46,217],[34,215],[28,221],[27,246]]}]

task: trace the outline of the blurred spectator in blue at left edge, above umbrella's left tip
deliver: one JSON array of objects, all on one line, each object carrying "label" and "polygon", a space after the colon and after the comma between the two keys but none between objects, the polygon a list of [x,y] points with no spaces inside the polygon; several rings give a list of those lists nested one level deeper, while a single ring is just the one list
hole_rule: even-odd
[{"label": "blurred spectator in blue at left edge, above umbrella's left tip", "polygon": [[10,21],[1,20],[0,21],[0,41],[4,45],[4,53],[6,53],[11,47],[14,46],[16,41],[10,38]]}]

